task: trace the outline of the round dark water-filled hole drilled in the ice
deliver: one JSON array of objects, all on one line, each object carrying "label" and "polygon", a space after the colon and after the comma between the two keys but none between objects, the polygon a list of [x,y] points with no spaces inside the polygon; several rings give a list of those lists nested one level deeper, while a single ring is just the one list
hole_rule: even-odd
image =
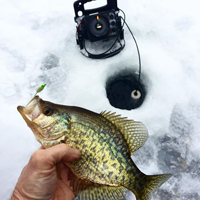
[{"label": "round dark water-filled hole drilled in the ice", "polygon": [[122,71],[109,77],[106,93],[110,104],[119,109],[132,110],[140,107],[146,96],[146,89],[138,75]]}]

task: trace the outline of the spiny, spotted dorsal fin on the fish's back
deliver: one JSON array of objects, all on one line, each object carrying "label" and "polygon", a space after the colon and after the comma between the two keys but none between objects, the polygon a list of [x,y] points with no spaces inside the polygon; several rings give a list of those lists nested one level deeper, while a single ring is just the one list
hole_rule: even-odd
[{"label": "spiny, spotted dorsal fin on the fish's back", "polygon": [[100,115],[115,124],[121,131],[131,154],[144,145],[148,138],[148,131],[141,122],[128,120],[127,117],[122,118],[121,115],[106,111],[101,112]]}]

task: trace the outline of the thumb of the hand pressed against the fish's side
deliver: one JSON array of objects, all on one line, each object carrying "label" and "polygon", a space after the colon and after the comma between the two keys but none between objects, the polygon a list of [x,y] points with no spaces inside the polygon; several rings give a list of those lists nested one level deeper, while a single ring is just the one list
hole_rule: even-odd
[{"label": "thumb of the hand pressed against the fish's side", "polygon": [[44,151],[46,155],[48,155],[52,165],[55,165],[61,161],[72,162],[80,157],[80,152],[77,149],[72,149],[66,144],[59,144]]}]

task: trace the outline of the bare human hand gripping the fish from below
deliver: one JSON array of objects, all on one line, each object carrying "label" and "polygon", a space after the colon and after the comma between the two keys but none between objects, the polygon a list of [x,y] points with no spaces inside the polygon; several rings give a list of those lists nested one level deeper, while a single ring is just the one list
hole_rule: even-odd
[{"label": "bare human hand gripping the fish from below", "polygon": [[[23,169],[11,200],[73,200],[69,168],[64,163],[76,161],[80,152],[66,144],[35,151]],[[60,178],[57,177],[57,170]]]}]

